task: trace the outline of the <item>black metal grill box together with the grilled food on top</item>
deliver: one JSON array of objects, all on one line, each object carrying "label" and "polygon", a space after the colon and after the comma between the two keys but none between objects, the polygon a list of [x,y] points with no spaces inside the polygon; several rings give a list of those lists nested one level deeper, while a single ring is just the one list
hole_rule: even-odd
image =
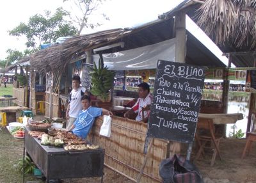
[{"label": "black metal grill box together with the grilled food on top", "polygon": [[[37,124],[43,125],[44,128],[39,127],[40,131],[34,131]],[[31,122],[25,127],[24,138],[26,153],[42,171],[47,182],[51,179],[103,176],[104,148],[92,145],[62,129],[48,128],[48,132],[42,132],[42,129],[49,126],[51,125],[44,125],[42,122]],[[54,143],[45,143],[45,138],[55,139]]]}]

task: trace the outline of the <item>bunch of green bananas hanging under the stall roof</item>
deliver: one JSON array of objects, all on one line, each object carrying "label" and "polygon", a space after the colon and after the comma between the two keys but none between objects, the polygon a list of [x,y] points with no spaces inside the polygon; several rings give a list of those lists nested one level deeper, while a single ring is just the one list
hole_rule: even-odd
[{"label": "bunch of green bananas hanging under the stall roof", "polygon": [[93,63],[93,70],[90,73],[92,77],[92,88],[90,92],[95,96],[100,96],[103,100],[108,99],[109,90],[113,86],[115,77],[115,71],[108,70],[108,67],[104,67],[103,58],[100,54],[99,67]]}]

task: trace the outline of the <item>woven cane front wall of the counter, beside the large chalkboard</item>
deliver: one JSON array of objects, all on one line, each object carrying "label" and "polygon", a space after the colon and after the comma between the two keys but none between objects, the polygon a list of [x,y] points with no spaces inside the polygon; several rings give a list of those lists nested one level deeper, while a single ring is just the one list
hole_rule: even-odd
[{"label": "woven cane front wall of the counter, beside the large chalkboard", "polygon": [[[111,137],[105,138],[99,136],[102,121],[102,116],[95,120],[89,136],[90,141],[105,148],[106,166],[135,182],[145,157],[143,148],[147,124],[113,116]],[[158,171],[161,160],[166,158],[166,147],[167,141],[154,140],[141,182],[161,182]]]}]

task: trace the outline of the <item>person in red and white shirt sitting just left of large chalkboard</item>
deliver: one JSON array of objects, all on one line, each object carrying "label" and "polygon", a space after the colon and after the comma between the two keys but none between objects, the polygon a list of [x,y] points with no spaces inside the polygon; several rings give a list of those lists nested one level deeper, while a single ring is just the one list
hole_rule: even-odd
[{"label": "person in red and white shirt sitting just left of large chalkboard", "polygon": [[[149,93],[150,90],[147,83],[141,83],[138,87],[139,99],[136,104],[134,104],[134,106],[124,114],[124,117],[127,118],[134,113],[138,113],[135,120],[138,122],[147,122],[150,113],[149,109],[152,101],[152,95]],[[142,111],[142,109],[145,109],[145,111]],[[142,112],[144,113],[144,119],[142,118]]]}]

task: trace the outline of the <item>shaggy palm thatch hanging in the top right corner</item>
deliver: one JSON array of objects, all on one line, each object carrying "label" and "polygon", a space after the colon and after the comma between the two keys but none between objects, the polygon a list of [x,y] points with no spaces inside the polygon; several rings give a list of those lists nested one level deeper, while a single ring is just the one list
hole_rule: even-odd
[{"label": "shaggy palm thatch hanging in the top right corner", "polygon": [[198,25],[216,44],[256,45],[255,0],[205,0],[196,12]]}]

